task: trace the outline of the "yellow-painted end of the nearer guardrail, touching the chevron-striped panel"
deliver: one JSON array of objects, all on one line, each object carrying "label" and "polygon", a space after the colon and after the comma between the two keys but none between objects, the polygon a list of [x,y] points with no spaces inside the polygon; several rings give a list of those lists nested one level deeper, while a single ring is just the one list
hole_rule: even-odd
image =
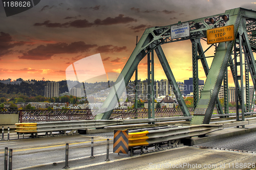
[{"label": "yellow-painted end of the nearer guardrail, touching the chevron-striped panel", "polygon": [[148,139],[146,134],[148,133],[148,131],[129,133],[129,147],[148,145],[148,142],[146,141],[146,139]]}]

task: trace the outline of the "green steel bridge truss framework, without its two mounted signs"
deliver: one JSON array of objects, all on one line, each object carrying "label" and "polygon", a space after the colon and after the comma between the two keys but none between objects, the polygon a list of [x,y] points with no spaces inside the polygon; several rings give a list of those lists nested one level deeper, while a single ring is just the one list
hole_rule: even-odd
[{"label": "green steel bridge truss framework, without its two mounted signs", "polygon": [[[222,19],[222,16],[224,14],[229,16],[229,20],[226,22]],[[209,21],[210,17],[216,18],[216,22],[214,24],[210,23]],[[170,42],[191,40],[192,48],[193,48],[192,54],[193,54],[194,83],[198,84],[197,83],[198,81],[198,72],[197,72],[198,61],[197,60],[198,59],[200,59],[203,64],[204,71],[205,71],[205,74],[207,75],[207,78],[206,78],[203,90],[201,91],[200,98],[198,96],[198,87],[194,88],[194,92],[195,92],[194,104],[196,105],[196,108],[190,124],[192,125],[209,124],[212,111],[214,110],[214,106],[217,104],[217,108],[220,107],[219,100],[218,100],[218,93],[219,93],[222,81],[224,79],[224,76],[227,72],[228,66],[230,67],[234,82],[237,85],[236,88],[239,91],[239,95],[237,95],[237,101],[240,104],[240,107],[242,108],[242,110],[245,110],[244,104],[243,104],[243,96],[242,96],[243,90],[241,89],[241,87],[243,88],[243,86],[242,86],[242,81],[240,80],[242,79],[241,77],[242,70],[238,71],[238,67],[241,67],[241,64],[243,64],[242,61],[244,57],[247,62],[248,70],[250,72],[253,86],[255,89],[256,65],[255,65],[252,52],[256,51],[256,43],[255,43],[256,42],[255,41],[256,12],[252,10],[243,9],[243,8],[236,8],[236,9],[227,10],[225,11],[225,13],[222,13],[222,14],[202,17],[202,18],[190,20],[187,22],[189,23],[190,35],[182,38],[172,39],[170,37],[170,27],[173,25],[177,25],[177,23],[169,26],[164,26],[164,27],[153,27],[153,28],[146,29],[142,37],[140,38],[138,44],[136,45],[133,53],[131,54],[129,60],[126,62],[125,66],[123,67],[121,74],[117,79],[117,82],[120,82],[123,78],[125,85],[127,86],[139,62],[146,55],[150,55],[150,53],[153,54],[153,52],[155,51],[163,67],[163,70],[166,74],[166,77],[170,85],[172,85],[173,87],[174,93],[176,95],[176,99],[178,100],[179,106],[181,107],[183,114],[185,116],[189,116],[190,114],[182,98],[180,89],[175,81],[174,75],[172,73],[172,70],[169,67],[169,64],[164,55],[161,45],[170,43]],[[212,44],[209,46],[209,48],[212,46],[216,48],[214,59],[209,69],[204,56],[204,53],[208,50],[208,48],[205,52],[203,52],[200,39],[202,40],[206,39],[206,31],[208,29],[223,27],[228,25],[234,25],[234,36],[237,38],[234,41],[221,42],[219,44]],[[238,49],[238,46],[239,46],[239,49]],[[238,53],[238,50],[239,50],[239,53]],[[152,63],[153,58],[154,57],[151,56],[151,59],[148,60],[148,65]],[[153,67],[151,68],[154,69]],[[150,69],[148,69],[148,71],[150,72],[150,74],[152,74],[151,71],[154,72],[154,70],[150,70]],[[238,74],[238,72],[240,72],[240,74]],[[152,79],[151,83],[154,84],[154,76],[152,76],[151,79]],[[238,81],[240,81],[241,87]],[[224,82],[225,82],[224,85],[227,86],[226,79],[224,79]],[[116,106],[116,103],[115,103],[116,100],[114,100],[116,98],[116,93],[120,95],[123,90],[124,89],[122,89],[121,86],[118,86],[117,84],[116,91],[112,90],[109,93],[108,97],[103,103],[95,119],[109,119],[114,107]],[[226,87],[226,90],[227,90],[227,87]],[[218,111],[222,112],[222,109],[220,108]],[[225,110],[225,113],[227,113],[227,110]],[[149,114],[148,117],[151,117],[151,114]],[[243,120],[243,118],[241,120]]]}]

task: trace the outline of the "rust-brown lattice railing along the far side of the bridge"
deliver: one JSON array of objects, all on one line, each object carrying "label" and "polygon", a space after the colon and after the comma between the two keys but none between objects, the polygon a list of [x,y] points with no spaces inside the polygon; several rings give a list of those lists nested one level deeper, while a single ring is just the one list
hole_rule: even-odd
[{"label": "rust-brown lattice railing along the far side of the bridge", "polygon": [[[224,109],[224,108],[223,108]],[[52,122],[59,120],[90,120],[94,119],[98,109],[63,109],[63,110],[19,110],[19,122]],[[194,108],[188,108],[191,115]],[[147,109],[114,109],[114,118],[147,118]],[[235,113],[236,107],[229,107],[229,113]],[[214,109],[214,114],[217,109]],[[155,117],[183,116],[180,108],[156,108]]]}]

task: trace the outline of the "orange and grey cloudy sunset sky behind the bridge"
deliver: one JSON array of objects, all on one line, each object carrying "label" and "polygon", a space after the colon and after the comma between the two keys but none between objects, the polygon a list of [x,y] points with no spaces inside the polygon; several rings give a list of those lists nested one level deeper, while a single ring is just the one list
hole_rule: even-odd
[{"label": "orange and grey cloudy sunset sky behind the bridge", "polygon": [[[0,3],[0,80],[66,80],[72,63],[100,53],[105,72],[121,72],[146,28],[224,13],[256,1],[63,1],[42,0],[34,8],[7,17]],[[201,41],[202,42],[202,41]],[[203,48],[208,45],[202,42]],[[191,42],[162,45],[176,81],[192,77]],[[212,56],[213,50],[206,53]],[[210,66],[212,58],[208,58]],[[146,79],[146,58],[139,79]],[[199,77],[205,80],[201,63]],[[94,66],[97,69],[97,64]],[[86,69],[86,68],[84,68]],[[166,79],[155,55],[155,79]],[[231,75],[229,82],[232,84]]]}]

